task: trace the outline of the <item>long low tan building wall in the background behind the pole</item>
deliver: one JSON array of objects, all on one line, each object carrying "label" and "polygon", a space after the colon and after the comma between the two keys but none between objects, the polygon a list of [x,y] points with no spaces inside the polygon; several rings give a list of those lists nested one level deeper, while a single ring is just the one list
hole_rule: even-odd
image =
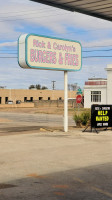
[{"label": "long low tan building wall in the background behind the pole", "polygon": [[[43,100],[57,100],[60,97],[64,99],[63,90],[24,90],[24,89],[0,89],[1,104],[5,104],[5,98],[8,97],[8,100],[12,100],[16,103],[17,100],[24,102],[24,97],[27,97],[27,100],[30,100],[30,97],[33,97],[33,100],[39,100],[39,97],[42,97]],[[76,91],[68,91],[68,98],[75,98]]]}]

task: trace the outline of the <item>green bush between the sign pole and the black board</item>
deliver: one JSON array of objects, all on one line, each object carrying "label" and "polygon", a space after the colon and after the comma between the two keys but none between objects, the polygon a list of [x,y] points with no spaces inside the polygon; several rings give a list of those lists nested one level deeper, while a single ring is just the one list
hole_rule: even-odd
[{"label": "green bush between the sign pole and the black board", "polygon": [[73,119],[76,122],[77,126],[86,126],[87,122],[90,120],[91,118],[91,113],[88,112],[83,112],[80,115],[79,114],[75,114]]}]

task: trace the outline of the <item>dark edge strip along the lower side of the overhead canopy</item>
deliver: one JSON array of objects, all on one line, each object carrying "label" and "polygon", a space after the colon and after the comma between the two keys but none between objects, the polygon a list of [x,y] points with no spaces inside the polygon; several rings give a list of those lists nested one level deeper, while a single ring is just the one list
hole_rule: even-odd
[{"label": "dark edge strip along the lower side of the overhead canopy", "polygon": [[100,19],[103,19],[103,20],[112,21],[112,17],[103,16],[101,14],[97,14],[97,13],[94,13],[94,12],[89,12],[89,11],[84,10],[84,9],[72,8],[70,6],[60,5],[58,3],[55,4],[55,3],[49,2],[47,0],[43,0],[43,1],[41,1],[41,0],[30,0],[30,1],[34,1],[34,2],[37,2],[37,3],[53,6],[53,7],[56,7],[56,8],[60,8],[60,9],[68,10],[68,11],[72,11],[72,12],[76,11],[76,12],[79,12],[79,13],[82,13],[82,14],[86,14],[86,15],[89,15],[89,16],[92,16],[92,17],[97,17],[97,18],[100,18]]}]

